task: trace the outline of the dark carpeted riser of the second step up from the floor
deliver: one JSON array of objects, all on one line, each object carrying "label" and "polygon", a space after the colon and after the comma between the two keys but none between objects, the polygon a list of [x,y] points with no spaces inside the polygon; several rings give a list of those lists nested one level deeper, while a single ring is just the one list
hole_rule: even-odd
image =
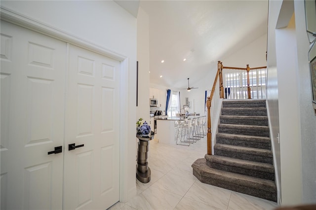
[{"label": "dark carpeted riser of the second step up from the floor", "polygon": [[228,166],[228,165],[224,165],[220,163],[209,162],[207,160],[206,160],[206,165],[213,169],[218,169],[218,170],[222,170],[226,172],[233,172],[233,173],[241,174],[241,175],[249,175],[249,176],[253,176],[257,178],[269,179],[272,181],[275,180],[275,174],[271,174],[268,172],[260,172],[260,171],[245,169],[242,167]]}]

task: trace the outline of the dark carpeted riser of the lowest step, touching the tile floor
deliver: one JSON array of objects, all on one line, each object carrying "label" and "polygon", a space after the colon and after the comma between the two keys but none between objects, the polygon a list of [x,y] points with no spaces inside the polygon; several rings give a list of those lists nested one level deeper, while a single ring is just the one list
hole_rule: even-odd
[{"label": "dark carpeted riser of the lowest step, touching the tile floor", "polygon": [[265,191],[262,189],[256,189],[250,186],[248,187],[248,186],[240,185],[233,182],[227,182],[224,180],[216,179],[216,177],[212,177],[212,176],[211,177],[201,176],[197,173],[195,169],[193,169],[193,175],[195,175],[198,180],[206,184],[211,184],[214,186],[222,187],[225,189],[233,190],[236,192],[240,192],[247,195],[251,195],[258,198],[276,202],[276,197],[277,197],[276,192],[272,193],[272,192]]}]

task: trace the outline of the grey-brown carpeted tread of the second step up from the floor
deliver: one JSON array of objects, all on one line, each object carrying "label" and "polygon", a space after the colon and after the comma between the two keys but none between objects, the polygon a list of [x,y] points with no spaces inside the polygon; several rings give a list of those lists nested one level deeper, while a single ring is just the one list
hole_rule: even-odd
[{"label": "grey-brown carpeted tread of the second step up from the floor", "polygon": [[205,155],[205,159],[209,162],[220,163],[229,166],[241,167],[244,169],[268,172],[274,174],[274,166],[269,163],[261,163],[250,160],[242,160],[232,157],[225,157],[219,155]]}]

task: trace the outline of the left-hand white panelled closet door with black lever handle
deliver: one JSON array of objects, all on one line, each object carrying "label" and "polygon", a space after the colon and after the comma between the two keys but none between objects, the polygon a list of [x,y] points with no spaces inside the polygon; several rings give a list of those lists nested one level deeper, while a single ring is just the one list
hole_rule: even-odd
[{"label": "left-hand white panelled closet door with black lever handle", "polygon": [[1,21],[1,209],[61,209],[66,43]]}]

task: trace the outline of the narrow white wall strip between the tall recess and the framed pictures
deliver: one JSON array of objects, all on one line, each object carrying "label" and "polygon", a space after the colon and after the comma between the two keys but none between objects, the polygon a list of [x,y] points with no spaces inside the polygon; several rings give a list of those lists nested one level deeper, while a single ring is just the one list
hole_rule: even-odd
[{"label": "narrow white wall strip between the tall recess and the framed pictures", "polygon": [[300,131],[302,145],[302,203],[316,203],[316,114],[312,105],[304,1],[294,1],[298,65]]}]

